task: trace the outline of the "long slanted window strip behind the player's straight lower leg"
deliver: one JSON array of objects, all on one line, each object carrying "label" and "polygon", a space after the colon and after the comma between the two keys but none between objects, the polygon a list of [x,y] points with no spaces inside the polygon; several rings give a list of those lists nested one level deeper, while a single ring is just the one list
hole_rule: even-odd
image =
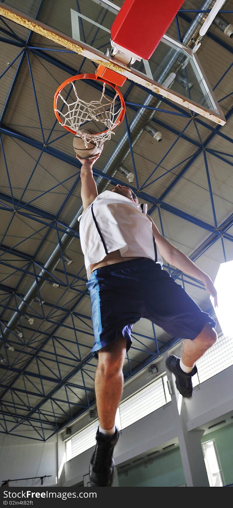
[{"label": "long slanted window strip behind the player's straight lower leg", "polygon": [[[156,379],[120,404],[116,414],[116,425],[119,430],[125,429],[171,400],[167,379],[166,375]],[[66,460],[70,460],[94,446],[98,423],[98,420],[95,420],[66,441]]]}]

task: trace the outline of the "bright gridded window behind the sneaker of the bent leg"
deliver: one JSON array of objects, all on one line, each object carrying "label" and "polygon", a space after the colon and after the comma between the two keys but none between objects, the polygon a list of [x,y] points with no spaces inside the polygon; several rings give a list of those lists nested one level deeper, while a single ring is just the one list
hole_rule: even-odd
[{"label": "bright gridded window behind the sneaker of the bent leg", "polygon": [[193,376],[193,387],[233,365],[233,338],[218,337],[215,344],[196,361],[197,374]]}]

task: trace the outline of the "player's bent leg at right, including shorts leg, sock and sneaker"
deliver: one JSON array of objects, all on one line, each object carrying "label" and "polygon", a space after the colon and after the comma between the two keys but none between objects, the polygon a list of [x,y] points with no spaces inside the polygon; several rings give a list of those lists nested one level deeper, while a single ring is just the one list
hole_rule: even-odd
[{"label": "player's bent leg at right, including shorts leg, sock and sneaker", "polygon": [[194,365],[198,358],[216,341],[216,323],[203,312],[175,282],[168,272],[160,266],[150,267],[145,272],[146,311],[144,317],[160,326],[173,337],[182,337],[184,342],[182,357],[170,355],[165,361],[168,369],[176,377],[176,385],[184,397],[193,393],[191,377],[197,372]]}]

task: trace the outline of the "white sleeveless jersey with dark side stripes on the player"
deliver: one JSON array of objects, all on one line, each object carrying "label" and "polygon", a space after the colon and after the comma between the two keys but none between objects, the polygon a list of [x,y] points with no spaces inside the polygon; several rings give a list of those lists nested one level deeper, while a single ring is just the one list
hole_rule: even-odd
[{"label": "white sleeveless jersey with dark side stripes on the player", "polygon": [[115,250],[122,258],[150,258],[162,265],[146,213],[146,204],[136,205],[125,196],[105,190],[78,217],[88,279],[90,265]]}]

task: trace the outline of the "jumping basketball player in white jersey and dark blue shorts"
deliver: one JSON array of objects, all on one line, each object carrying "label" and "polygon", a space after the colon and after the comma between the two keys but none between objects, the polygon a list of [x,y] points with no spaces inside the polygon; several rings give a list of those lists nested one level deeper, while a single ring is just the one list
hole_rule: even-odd
[{"label": "jumping basketball player in white jersey and dark blue shorts", "polygon": [[160,235],[147,215],[147,205],[125,185],[98,195],[93,163],[79,158],[83,213],[80,241],[90,290],[94,345],[98,358],[95,395],[99,418],[96,446],[90,463],[92,487],[110,487],[114,477],[113,450],[119,437],[115,426],[122,389],[122,366],[131,345],[132,325],[145,317],[175,337],[183,337],[181,358],[170,355],[166,364],[184,397],[192,396],[195,361],[217,338],[216,323],[203,312],[165,270],[162,258],[196,277],[214,297],[214,284],[183,252]]}]

